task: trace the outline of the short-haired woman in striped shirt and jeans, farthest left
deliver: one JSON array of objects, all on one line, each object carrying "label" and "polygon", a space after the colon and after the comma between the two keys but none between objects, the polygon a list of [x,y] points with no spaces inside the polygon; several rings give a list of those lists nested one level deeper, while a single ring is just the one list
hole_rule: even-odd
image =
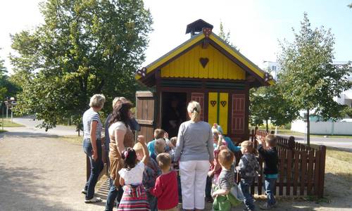
[{"label": "short-haired woman in striped shirt and jeans, farthest left", "polygon": [[94,94],[90,98],[90,108],[83,114],[83,151],[87,154],[90,161],[90,176],[82,190],[86,195],[85,203],[101,202],[101,198],[94,197],[94,188],[98,181],[99,174],[103,169],[103,161],[101,160],[101,130],[103,124],[99,118],[99,111],[103,108],[105,96],[102,94]]}]

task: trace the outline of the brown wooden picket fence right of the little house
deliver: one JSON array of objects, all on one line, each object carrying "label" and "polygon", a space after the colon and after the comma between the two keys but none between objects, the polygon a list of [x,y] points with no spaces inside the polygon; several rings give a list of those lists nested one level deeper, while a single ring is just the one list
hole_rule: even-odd
[{"label": "brown wooden picket fence right of the little house", "polygon": [[[251,141],[257,146],[256,136],[265,138],[269,133],[252,129]],[[267,148],[264,143],[264,148]],[[311,148],[289,138],[277,136],[277,152],[279,153],[279,177],[276,183],[278,196],[318,196],[324,193],[326,146]],[[237,162],[241,153],[236,153]],[[263,167],[263,159],[259,158]],[[265,194],[263,188],[263,168],[258,180],[251,186],[251,193]],[[240,177],[237,175],[237,182]]]}]

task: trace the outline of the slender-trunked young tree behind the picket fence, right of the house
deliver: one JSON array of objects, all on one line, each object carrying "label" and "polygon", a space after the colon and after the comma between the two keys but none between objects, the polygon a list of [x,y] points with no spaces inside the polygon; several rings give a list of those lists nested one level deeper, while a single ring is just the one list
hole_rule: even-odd
[{"label": "slender-trunked young tree behind the picket fence, right of the house", "polygon": [[301,30],[294,31],[294,41],[281,43],[278,60],[282,71],[279,80],[284,87],[284,98],[306,110],[307,144],[310,144],[310,113],[320,120],[337,120],[344,107],[333,100],[351,88],[348,65],[332,65],[334,36],[324,27],[312,29],[304,13]]}]

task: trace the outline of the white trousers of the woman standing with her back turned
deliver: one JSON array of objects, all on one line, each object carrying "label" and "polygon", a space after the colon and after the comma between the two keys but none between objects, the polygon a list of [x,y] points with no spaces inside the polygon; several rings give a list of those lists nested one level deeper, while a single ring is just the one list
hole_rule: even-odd
[{"label": "white trousers of the woman standing with her back turned", "polygon": [[180,162],[182,188],[182,207],[184,210],[203,210],[208,160],[189,160]]}]

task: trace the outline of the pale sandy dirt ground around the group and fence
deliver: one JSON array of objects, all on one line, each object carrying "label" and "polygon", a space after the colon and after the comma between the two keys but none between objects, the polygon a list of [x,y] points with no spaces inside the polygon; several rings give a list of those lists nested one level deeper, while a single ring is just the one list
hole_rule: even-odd
[{"label": "pale sandy dirt ground around the group and fence", "polygon": [[[85,204],[82,146],[47,134],[13,132],[0,137],[0,210],[103,210],[105,202]],[[329,162],[340,162],[329,160]],[[346,165],[351,163],[346,162]],[[350,167],[351,167],[350,166]],[[327,172],[320,203],[279,200],[275,210],[352,210],[352,184]],[[328,203],[327,203],[328,202]],[[256,205],[263,204],[257,200]],[[211,205],[207,204],[207,210]],[[242,210],[236,207],[234,210]]]}]

